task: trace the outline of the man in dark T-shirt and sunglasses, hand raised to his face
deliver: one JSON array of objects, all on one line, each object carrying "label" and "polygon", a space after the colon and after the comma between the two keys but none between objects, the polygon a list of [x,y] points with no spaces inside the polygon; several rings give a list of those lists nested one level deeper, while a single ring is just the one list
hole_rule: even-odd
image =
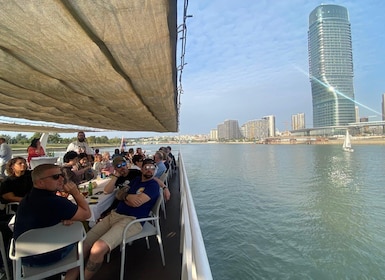
[{"label": "man in dark T-shirt and sunglasses, hand raised to his face", "polygon": [[[85,221],[91,216],[87,201],[73,182],[63,184],[64,178],[60,167],[54,164],[42,164],[32,171],[32,190],[20,202],[17,209],[13,237],[17,239],[22,233],[34,229],[56,225],[63,221]],[[64,197],[57,196],[56,191],[70,193],[76,204]],[[23,259],[27,266],[44,266],[64,258],[72,249],[62,248],[54,252],[31,256]]]}]

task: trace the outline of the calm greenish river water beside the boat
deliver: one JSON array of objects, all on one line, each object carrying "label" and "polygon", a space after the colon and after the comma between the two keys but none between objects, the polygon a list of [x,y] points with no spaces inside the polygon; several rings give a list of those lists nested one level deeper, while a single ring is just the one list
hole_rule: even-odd
[{"label": "calm greenish river water beside the boat", "polygon": [[214,279],[385,279],[385,146],[354,148],[176,147]]}]

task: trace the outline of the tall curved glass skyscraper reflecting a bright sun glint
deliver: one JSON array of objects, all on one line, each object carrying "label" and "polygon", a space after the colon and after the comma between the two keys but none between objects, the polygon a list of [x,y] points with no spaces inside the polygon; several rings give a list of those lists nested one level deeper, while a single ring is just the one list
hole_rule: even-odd
[{"label": "tall curved glass skyscraper reflecting a bright sun glint", "polygon": [[313,126],[355,122],[353,53],[348,10],[320,5],[309,15]]}]

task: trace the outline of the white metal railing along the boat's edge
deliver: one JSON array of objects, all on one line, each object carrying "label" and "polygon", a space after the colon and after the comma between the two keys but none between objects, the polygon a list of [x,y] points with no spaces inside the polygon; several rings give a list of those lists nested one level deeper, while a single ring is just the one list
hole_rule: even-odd
[{"label": "white metal railing along the boat's edge", "polygon": [[181,279],[210,280],[213,277],[181,153],[178,155],[178,171],[181,195],[180,250],[183,256]]}]

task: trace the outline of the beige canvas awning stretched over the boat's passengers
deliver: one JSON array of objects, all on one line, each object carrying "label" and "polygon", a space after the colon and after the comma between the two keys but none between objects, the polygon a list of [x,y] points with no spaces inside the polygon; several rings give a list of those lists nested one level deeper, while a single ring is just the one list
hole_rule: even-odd
[{"label": "beige canvas awning stretched over the boat's passengers", "polygon": [[178,131],[176,0],[0,6],[0,116]]}]

